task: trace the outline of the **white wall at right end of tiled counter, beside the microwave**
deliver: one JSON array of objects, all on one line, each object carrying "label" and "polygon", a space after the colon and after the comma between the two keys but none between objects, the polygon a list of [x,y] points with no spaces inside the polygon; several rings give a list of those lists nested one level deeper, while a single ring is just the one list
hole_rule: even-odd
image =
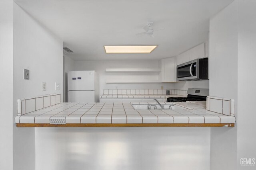
[{"label": "white wall at right end of tiled counter, beside the microwave", "polygon": [[[210,19],[210,96],[233,98],[237,117],[237,2]],[[237,164],[237,125],[211,127],[211,170],[232,170]]]}]

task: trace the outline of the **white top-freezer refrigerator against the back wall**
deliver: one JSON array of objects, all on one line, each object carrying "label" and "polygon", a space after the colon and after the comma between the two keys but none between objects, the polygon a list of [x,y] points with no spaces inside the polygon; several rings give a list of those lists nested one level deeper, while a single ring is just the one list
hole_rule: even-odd
[{"label": "white top-freezer refrigerator against the back wall", "polygon": [[68,72],[68,102],[100,102],[99,75],[94,70]]}]

